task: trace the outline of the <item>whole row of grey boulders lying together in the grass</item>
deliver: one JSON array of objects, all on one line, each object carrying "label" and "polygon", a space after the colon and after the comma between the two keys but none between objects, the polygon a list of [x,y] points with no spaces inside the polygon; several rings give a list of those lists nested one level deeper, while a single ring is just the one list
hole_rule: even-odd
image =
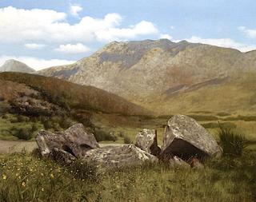
[{"label": "whole row of grey boulders lying together in the grass", "polygon": [[100,148],[94,134],[87,132],[82,124],[58,133],[42,130],[36,141],[42,156],[67,164],[80,159],[96,165],[100,172],[158,161],[173,168],[201,168],[206,157],[222,155],[214,137],[194,119],[184,115],[176,115],[167,122],[162,149],[158,146],[156,131],[150,129],[138,133],[135,145]]}]

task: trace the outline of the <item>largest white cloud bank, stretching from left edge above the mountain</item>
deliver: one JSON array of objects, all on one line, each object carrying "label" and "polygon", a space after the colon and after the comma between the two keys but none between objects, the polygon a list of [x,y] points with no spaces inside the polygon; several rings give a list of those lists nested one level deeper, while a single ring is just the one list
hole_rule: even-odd
[{"label": "largest white cloud bank, stretching from left edge above the mountain", "polygon": [[151,22],[120,28],[122,16],[106,14],[104,18],[86,16],[76,24],[66,21],[66,14],[55,10],[23,10],[12,6],[0,9],[0,42],[110,42],[158,34]]}]

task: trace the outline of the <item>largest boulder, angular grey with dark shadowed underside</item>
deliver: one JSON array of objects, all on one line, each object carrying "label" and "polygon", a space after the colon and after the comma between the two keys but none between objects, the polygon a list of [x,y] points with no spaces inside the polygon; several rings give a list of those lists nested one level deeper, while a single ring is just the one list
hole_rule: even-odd
[{"label": "largest boulder, angular grey with dark shadowed underside", "polygon": [[163,134],[161,157],[179,156],[183,160],[206,156],[221,156],[222,149],[214,137],[193,118],[175,115],[167,122]]}]

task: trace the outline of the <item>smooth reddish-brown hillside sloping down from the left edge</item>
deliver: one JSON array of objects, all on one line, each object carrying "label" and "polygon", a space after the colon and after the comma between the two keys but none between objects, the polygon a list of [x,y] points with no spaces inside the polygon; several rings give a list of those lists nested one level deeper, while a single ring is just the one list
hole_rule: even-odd
[{"label": "smooth reddish-brown hillside sloping down from the left edge", "polygon": [[[0,73],[0,97],[12,99],[31,89],[50,97],[48,100],[62,101],[71,109],[86,109],[102,113],[123,115],[149,115],[150,111],[126,101],[113,93],[92,86],[77,85],[54,77],[43,77],[29,73]],[[16,83],[16,85],[15,85]]]}]

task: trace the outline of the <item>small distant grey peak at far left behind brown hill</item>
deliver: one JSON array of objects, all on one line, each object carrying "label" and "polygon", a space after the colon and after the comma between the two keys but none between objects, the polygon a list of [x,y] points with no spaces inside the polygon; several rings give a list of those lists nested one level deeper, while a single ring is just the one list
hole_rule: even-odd
[{"label": "small distant grey peak at far left behind brown hill", "polygon": [[13,59],[7,60],[2,66],[0,66],[0,72],[21,72],[21,73],[33,73],[35,70],[21,61],[15,61]]}]

